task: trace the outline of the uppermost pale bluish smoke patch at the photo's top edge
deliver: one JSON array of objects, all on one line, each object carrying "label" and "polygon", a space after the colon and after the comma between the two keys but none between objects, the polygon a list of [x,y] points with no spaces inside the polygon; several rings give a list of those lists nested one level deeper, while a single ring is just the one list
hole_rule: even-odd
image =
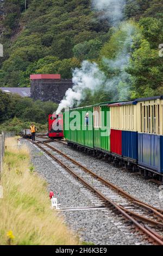
[{"label": "uppermost pale bluish smoke patch at the photo's top edge", "polygon": [[126,0],[92,0],[93,9],[100,11],[102,18],[108,19],[112,25],[122,20]]}]

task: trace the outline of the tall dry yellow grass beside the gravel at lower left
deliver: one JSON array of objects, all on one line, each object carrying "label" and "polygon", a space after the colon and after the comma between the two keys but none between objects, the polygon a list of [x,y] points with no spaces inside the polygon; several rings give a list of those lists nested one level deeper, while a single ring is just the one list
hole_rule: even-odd
[{"label": "tall dry yellow grass beside the gravel at lower left", "polygon": [[[4,167],[0,199],[0,244],[77,245],[78,239],[65,226],[46,191],[46,182],[30,167],[26,145],[19,150],[17,140],[5,141]],[[8,231],[12,234],[7,235]],[[10,234],[8,233],[8,234]]]}]

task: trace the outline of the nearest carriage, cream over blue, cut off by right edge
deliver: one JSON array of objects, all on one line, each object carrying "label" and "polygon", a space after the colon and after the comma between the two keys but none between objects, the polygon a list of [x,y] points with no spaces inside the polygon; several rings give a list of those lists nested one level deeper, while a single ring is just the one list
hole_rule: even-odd
[{"label": "nearest carriage, cream over blue, cut off by right edge", "polygon": [[138,164],[163,173],[163,96],[137,99]]}]

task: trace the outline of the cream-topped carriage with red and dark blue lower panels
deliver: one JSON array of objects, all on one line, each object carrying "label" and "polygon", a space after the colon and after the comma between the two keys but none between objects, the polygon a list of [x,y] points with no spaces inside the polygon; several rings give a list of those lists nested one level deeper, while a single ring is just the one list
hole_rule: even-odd
[{"label": "cream-topped carriage with red and dark blue lower panels", "polygon": [[128,162],[138,160],[137,102],[118,102],[109,105],[111,115],[111,152]]}]

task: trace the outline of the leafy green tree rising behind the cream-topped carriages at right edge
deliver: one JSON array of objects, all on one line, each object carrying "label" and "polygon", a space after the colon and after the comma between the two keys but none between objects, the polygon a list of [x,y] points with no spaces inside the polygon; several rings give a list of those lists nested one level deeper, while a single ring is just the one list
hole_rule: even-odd
[{"label": "leafy green tree rising behind the cream-topped carriages at right edge", "polygon": [[146,39],[141,40],[140,47],[132,54],[130,67],[133,84],[133,98],[162,94],[163,59],[158,50],[151,48]]}]

